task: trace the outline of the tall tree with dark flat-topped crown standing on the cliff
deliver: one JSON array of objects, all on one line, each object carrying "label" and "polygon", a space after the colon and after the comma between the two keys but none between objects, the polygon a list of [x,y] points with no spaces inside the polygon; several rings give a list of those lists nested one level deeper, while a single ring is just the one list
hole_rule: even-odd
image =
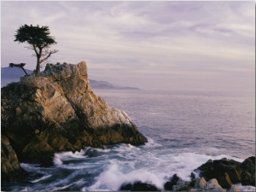
[{"label": "tall tree with dark flat-topped crown standing on the cliff", "polygon": [[49,49],[52,44],[57,44],[55,38],[49,36],[49,26],[20,26],[16,31],[15,41],[29,44],[28,49],[35,51],[37,57],[36,76],[40,75],[40,64],[46,61],[50,55],[58,50]]}]

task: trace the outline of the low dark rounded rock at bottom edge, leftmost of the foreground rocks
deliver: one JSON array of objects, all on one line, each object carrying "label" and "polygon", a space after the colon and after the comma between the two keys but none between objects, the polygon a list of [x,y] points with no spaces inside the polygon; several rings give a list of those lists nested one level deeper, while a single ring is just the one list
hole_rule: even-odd
[{"label": "low dark rounded rock at bottom edge, leftmost of the foreground rocks", "polygon": [[137,181],[135,183],[123,184],[119,190],[130,190],[130,191],[160,191],[153,184],[142,183]]}]

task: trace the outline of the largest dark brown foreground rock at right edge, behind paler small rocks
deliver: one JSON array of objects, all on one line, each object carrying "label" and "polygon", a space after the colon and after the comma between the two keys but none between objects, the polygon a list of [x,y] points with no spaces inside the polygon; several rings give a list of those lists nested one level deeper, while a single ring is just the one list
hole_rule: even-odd
[{"label": "largest dark brown foreground rock at right edge, behind paler small rocks", "polygon": [[255,186],[255,156],[249,157],[242,163],[236,160],[208,160],[198,167],[200,177],[206,180],[216,178],[220,186],[230,189],[232,184]]}]

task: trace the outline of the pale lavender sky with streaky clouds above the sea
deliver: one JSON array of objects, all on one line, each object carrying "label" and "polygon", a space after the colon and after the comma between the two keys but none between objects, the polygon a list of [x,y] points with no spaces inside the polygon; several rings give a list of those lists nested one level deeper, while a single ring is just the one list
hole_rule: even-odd
[{"label": "pale lavender sky with streaky clouds above the sea", "polygon": [[49,63],[86,61],[90,79],[255,91],[254,1],[2,1],[1,67],[35,69],[33,51],[14,41],[25,24],[49,26],[59,50]]}]

